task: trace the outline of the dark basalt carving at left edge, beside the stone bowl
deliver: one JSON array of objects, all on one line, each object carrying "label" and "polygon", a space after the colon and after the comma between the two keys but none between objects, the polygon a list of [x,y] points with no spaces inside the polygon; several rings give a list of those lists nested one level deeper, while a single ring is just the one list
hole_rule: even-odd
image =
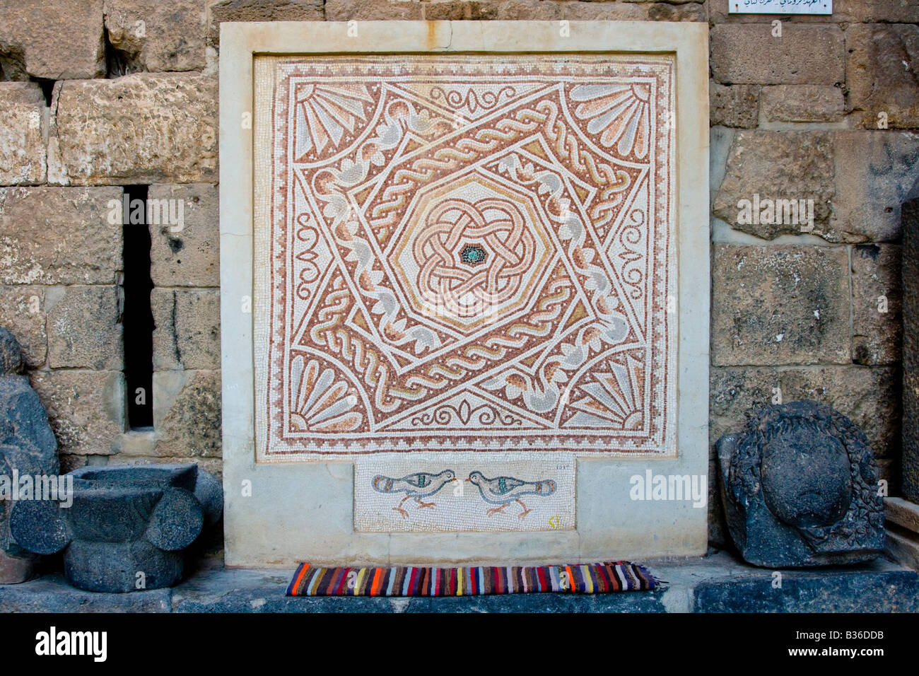
[{"label": "dark basalt carving at left edge, beside the stone bowl", "polygon": [[0,584],[31,579],[37,561],[10,533],[14,479],[58,473],[57,441],[48,413],[22,368],[17,339],[0,328]]}]

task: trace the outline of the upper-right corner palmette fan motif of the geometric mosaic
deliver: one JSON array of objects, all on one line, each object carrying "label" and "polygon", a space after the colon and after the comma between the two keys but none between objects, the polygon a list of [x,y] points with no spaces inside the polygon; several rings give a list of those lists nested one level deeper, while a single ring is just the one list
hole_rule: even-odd
[{"label": "upper-right corner palmette fan motif of the geometric mosaic", "polygon": [[644,159],[651,136],[651,90],[641,84],[579,85],[572,89],[574,115],[587,122],[587,131],[600,134],[600,143],[616,143],[619,155]]}]

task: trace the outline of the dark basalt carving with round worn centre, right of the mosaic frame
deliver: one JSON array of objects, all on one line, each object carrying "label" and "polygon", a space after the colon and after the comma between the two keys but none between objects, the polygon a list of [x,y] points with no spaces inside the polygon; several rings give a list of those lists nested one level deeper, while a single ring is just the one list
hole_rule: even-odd
[{"label": "dark basalt carving with round worn centre, right of the mosaic frame", "polygon": [[718,441],[734,544],[764,567],[868,561],[884,548],[878,468],[865,434],[823,404],[766,407]]}]

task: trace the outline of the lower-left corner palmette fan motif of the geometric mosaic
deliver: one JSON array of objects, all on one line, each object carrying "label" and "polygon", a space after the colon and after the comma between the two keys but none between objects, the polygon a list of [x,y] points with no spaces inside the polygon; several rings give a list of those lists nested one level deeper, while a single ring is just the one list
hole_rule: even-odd
[{"label": "lower-left corner palmette fan motif of the geometric mosaic", "polygon": [[364,416],[352,410],[357,395],[348,394],[345,381],[335,371],[323,369],[319,361],[306,361],[297,355],[290,362],[292,391],[290,427],[298,431],[335,432],[355,430]]}]

